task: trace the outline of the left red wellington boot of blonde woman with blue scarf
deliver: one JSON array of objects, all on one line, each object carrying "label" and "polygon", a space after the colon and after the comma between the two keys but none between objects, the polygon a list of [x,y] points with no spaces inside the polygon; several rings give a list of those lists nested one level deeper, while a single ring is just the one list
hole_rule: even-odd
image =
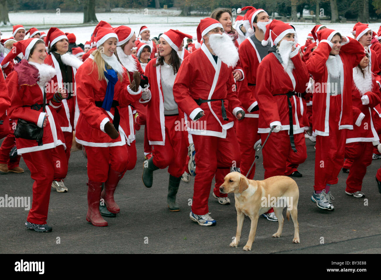
[{"label": "left red wellington boot of blonde woman with blue scarf", "polygon": [[93,226],[107,227],[107,221],[105,221],[101,213],[99,212],[99,200],[101,200],[101,187],[102,182],[90,181],[87,183],[87,203],[88,210],[86,214],[86,221],[91,222]]}]

